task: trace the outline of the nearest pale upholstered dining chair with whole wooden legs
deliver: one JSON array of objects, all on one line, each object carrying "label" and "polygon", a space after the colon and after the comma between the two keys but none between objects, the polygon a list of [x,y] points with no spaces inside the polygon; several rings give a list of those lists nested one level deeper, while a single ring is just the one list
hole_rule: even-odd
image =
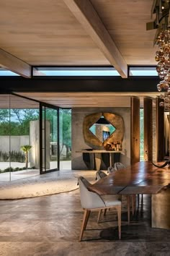
[{"label": "nearest pale upholstered dining chair with whole wooden legs", "polygon": [[99,196],[96,192],[89,191],[88,187],[90,183],[83,176],[80,176],[78,180],[80,187],[81,207],[84,209],[84,218],[81,224],[79,241],[81,242],[83,237],[91,210],[104,210],[108,208],[116,208],[117,210],[118,236],[119,239],[121,239],[121,201],[117,199],[117,195]]}]

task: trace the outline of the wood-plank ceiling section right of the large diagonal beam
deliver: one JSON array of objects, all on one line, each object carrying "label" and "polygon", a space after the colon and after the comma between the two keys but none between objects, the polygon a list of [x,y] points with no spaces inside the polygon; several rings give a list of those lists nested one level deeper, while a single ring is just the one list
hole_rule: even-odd
[{"label": "wood-plank ceiling section right of the large diagonal beam", "polygon": [[91,3],[127,64],[156,64],[156,47],[153,47],[156,31],[146,31],[146,22],[151,22],[152,0],[91,0]]}]

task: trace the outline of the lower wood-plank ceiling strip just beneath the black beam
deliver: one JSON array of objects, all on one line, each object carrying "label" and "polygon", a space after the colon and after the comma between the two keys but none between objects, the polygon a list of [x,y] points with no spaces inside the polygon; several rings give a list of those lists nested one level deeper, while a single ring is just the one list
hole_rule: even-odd
[{"label": "lower wood-plank ceiling strip just beneath the black beam", "polygon": [[[97,108],[97,107],[130,107],[132,93],[17,93],[36,101],[42,101],[61,108]],[[143,97],[156,98],[156,93],[133,93],[140,98],[140,107],[143,107]],[[6,96],[7,97],[7,96]],[[154,103],[154,100],[153,100]],[[0,108],[8,106],[8,98],[0,98]],[[12,108],[36,108],[37,103],[27,101],[16,96],[11,98]]]}]

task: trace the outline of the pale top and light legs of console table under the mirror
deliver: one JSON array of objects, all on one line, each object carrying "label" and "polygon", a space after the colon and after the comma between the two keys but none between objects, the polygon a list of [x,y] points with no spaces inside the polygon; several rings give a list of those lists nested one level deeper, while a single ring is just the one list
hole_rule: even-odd
[{"label": "pale top and light legs of console table under the mirror", "polygon": [[115,153],[122,153],[122,151],[117,150],[77,150],[76,153],[89,153],[93,154],[93,159],[96,163],[96,169],[99,171],[101,163],[102,163],[102,153],[109,153],[109,166],[113,166],[113,159],[112,159],[112,154]]}]

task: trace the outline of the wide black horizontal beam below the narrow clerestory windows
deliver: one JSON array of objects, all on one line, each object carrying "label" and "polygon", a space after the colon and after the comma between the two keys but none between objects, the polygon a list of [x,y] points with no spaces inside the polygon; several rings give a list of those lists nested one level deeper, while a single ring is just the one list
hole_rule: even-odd
[{"label": "wide black horizontal beam below the narrow clerestory windows", "polygon": [[0,93],[11,92],[157,92],[158,77],[0,77]]}]

